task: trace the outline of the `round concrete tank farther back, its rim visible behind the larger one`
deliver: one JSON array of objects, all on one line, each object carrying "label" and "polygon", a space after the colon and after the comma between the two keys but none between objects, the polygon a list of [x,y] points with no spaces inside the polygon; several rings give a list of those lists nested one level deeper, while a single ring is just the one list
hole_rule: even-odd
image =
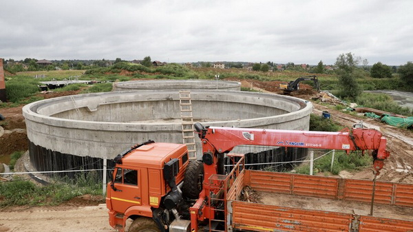
[{"label": "round concrete tank farther back, its rim visible behind the larger one", "polygon": [[215,89],[240,90],[241,83],[237,81],[207,81],[207,80],[158,80],[158,81],[124,81],[114,83],[114,91],[145,90],[145,89]]}]

